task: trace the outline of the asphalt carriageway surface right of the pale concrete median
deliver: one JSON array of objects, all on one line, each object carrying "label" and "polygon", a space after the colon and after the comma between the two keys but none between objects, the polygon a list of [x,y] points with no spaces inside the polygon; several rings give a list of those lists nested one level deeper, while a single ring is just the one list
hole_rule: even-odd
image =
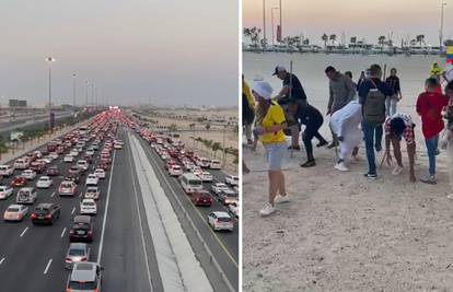
[{"label": "asphalt carriageway surface right of the pale concrete median", "polygon": [[[138,136],[137,136],[138,137]],[[205,184],[205,187],[211,191],[211,196],[214,199],[211,207],[195,207],[190,201],[190,197],[187,196],[182,189],[177,178],[167,174],[164,168],[164,162],[160,159],[158,153],[140,137],[138,137],[142,147],[146,150],[151,165],[154,167],[161,186],[167,194],[173,209],[178,209],[177,200],[179,200],[183,208],[187,211],[196,229],[202,237],[202,241],[208,245],[208,248],[212,253],[217,262],[221,267],[222,271],[228,278],[231,287],[235,290],[239,288],[239,221],[234,223],[233,232],[213,232],[207,224],[207,215],[212,211],[229,211],[211,191],[211,184]],[[210,171],[218,182],[224,182],[225,174],[221,171]],[[182,212],[176,212],[179,222],[186,221]],[[183,225],[184,227],[184,225]],[[186,226],[186,233],[193,232],[193,229]],[[193,247],[196,243],[191,243]],[[202,262],[201,262],[202,264]],[[207,268],[205,268],[207,270]],[[209,277],[209,276],[208,276]]]}]

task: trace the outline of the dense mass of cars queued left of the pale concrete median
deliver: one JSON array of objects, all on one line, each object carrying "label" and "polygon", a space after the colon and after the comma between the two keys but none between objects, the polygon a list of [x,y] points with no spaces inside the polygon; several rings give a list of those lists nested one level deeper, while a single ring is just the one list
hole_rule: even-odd
[{"label": "dense mass of cars queued left of the pale concrete median", "polygon": [[[91,246],[98,241],[93,224],[97,206],[106,196],[101,189],[108,184],[113,152],[124,145],[116,139],[117,115],[103,112],[86,126],[11,164],[0,165],[0,205],[5,207],[5,224],[23,222],[32,223],[31,229],[51,229],[60,218],[71,219],[71,225],[61,233],[68,244],[66,257],[60,259],[69,272],[66,291],[101,291],[103,268],[91,256]],[[74,208],[63,213],[62,205],[68,201]]]}]

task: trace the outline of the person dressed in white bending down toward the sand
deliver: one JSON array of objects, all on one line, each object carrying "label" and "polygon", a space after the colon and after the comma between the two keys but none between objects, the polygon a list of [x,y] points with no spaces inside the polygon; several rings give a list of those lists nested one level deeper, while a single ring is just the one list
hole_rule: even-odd
[{"label": "person dressed in white bending down toward the sand", "polygon": [[362,122],[362,105],[359,101],[351,101],[330,117],[330,129],[339,140],[339,160],[334,166],[340,172],[348,172],[346,162],[350,155],[357,159],[359,144],[363,140],[363,133],[359,129]]}]

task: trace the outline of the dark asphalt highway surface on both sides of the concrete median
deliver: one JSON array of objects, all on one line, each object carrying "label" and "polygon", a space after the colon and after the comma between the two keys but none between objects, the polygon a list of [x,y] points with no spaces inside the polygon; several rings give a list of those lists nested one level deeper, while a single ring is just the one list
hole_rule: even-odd
[{"label": "dark asphalt highway surface on both sides of the concrete median", "polygon": [[[102,291],[163,291],[161,272],[156,260],[147,214],[138,184],[138,168],[132,161],[131,136],[128,129],[118,128],[117,138],[125,141],[123,150],[116,150],[105,179],[101,180],[101,199],[94,220],[94,241],[91,246],[91,261],[104,267]],[[195,208],[174,178],[166,175],[163,163],[153,150],[140,138],[140,144],[152,164],[162,188],[174,208],[191,248],[204,268],[213,291],[229,291],[239,287],[239,229],[232,233],[213,233],[206,223],[209,209]],[[102,148],[101,148],[102,149]],[[95,154],[93,164],[98,160]],[[67,174],[71,163],[63,163],[62,155],[51,165],[60,174]],[[94,165],[91,167],[94,168]],[[19,171],[15,175],[20,174]],[[213,173],[222,180],[224,174]],[[62,175],[54,177],[50,189],[38,189],[39,202],[55,202],[61,207],[61,217],[54,225],[33,225],[30,217],[23,222],[0,221],[0,291],[65,291],[69,272],[63,260],[69,246],[71,218],[78,213],[84,194],[84,178],[78,187],[78,196],[59,197],[57,188]],[[11,178],[2,178],[1,185]],[[28,184],[34,186],[36,179]],[[15,203],[14,196],[0,201],[0,215],[9,205]],[[183,218],[176,200],[189,214],[194,225]],[[216,202],[213,208],[223,207]],[[196,227],[196,230],[194,229]],[[198,234],[198,235],[197,235]],[[205,241],[206,246],[201,243]],[[208,252],[209,249],[209,252]],[[214,260],[210,258],[212,253]],[[219,267],[213,264],[216,261]],[[225,279],[222,279],[221,270]]]}]

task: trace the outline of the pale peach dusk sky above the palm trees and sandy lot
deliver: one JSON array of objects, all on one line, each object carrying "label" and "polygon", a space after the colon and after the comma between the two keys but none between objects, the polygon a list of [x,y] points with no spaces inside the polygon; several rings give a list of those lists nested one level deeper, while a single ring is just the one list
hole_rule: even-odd
[{"label": "pale peach dusk sky above the palm trees and sandy lot", "polygon": [[[444,39],[453,38],[453,1],[444,0]],[[378,43],[380,35],[393,32],[393,39],[400,44],[402,38],[423,34],[426,42],[439,45],[441,0],[281,0],[283,36],[303,34],[312,43],[322,44],[323,33],[342,33],[349,42],[351,36]],[[243,0],[243,26],[263,27],[263,0]],[[266,0],[267,38],[271,39],[272,7],[279,0]],[[279,22],[278,10],[275,21]]]}]

